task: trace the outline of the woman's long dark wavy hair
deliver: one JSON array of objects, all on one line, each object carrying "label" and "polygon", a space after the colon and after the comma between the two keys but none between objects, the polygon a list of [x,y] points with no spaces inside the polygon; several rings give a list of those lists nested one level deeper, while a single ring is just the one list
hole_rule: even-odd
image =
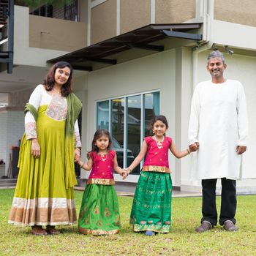
[{"label": "woman's long dark wavy hair", "polygon": [[69,94],[72,93],[71,82],[72,82],[72,75],[73,75],[73,68],[72,68],[71,64],[69,64],[68,62],[59,61],[56,64],[54,64],[53,67],[51,67],[49,69],[48,73],[46,74],[43,83],[45,85],[46,91],[51,91],[53,89],[53,86],[55,83],[54,75],[55,75],[56,69],[58,69],[58,68],[63,69],[64,67],[69,67],[69,69],[70,69],[69,79],[67,80],[67,83],[65,83],[61,87],[61,95],[63,97],[67,97]]}]

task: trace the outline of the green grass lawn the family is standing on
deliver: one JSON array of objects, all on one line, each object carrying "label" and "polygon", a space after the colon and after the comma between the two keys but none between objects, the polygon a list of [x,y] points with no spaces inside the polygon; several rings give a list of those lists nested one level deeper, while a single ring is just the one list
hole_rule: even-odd
[{"label": "green grass lawn the family is standing on", "polygon": [[[238,196],[238,232],[219,225],[195,233],[200,224],[201,198],[173,198],[170,233],[147,237],[129,227],[131,197],[118,197],[121,233],[84,236],[78,227],[61,226],[59,236],[33,236],[29,227],[7,224],[14,189],[0,189],[0,255],[256,255],[256,196]],[[79,211],[83,192],[75,192]],[[219,197],[217,206],[219,209]]]}]

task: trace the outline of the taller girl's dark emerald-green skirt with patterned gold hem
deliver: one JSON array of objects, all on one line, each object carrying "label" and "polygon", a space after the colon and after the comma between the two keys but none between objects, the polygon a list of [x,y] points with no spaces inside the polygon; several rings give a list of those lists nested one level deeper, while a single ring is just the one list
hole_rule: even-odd
[{"label": "taller girl's dark emerald-green skirt with patterned gold hem", "polygon": [[170,173],[140,173],[130,217],[130,225],[135,232],[170,231],[172,188]]}]

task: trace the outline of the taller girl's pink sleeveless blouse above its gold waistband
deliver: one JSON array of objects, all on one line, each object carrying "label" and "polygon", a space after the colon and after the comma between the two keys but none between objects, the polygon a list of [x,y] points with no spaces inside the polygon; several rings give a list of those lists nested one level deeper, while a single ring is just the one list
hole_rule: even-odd
[{"label": "taller girl's pink sleeveless blouse above its gold waistband", "polygon": [[157,142],[151,136],[145,138],[148,145],[148,151],[143,166],[165,166],[169,168],[168,151],[172,143],[170,137],[165,137],[162,148],[157,147]]}]

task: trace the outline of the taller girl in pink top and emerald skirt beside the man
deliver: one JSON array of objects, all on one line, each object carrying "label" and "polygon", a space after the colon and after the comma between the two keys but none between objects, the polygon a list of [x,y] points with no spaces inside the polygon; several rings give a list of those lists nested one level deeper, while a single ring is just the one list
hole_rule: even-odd
[{"label": "taller girl in pink top and emerald skirt beside the man", "polygon": [[130,224],[135,232],[146,236],[170,231],[172,180],[168,151],[177,158],[190,154],[189,149],[178,151],[170,137],[165,136],[168,124],[165,116],[155,116],[151,122],[154,133],[143,141],[138,157],[126,169],[130,173],[146,156],[132,204]]}]

